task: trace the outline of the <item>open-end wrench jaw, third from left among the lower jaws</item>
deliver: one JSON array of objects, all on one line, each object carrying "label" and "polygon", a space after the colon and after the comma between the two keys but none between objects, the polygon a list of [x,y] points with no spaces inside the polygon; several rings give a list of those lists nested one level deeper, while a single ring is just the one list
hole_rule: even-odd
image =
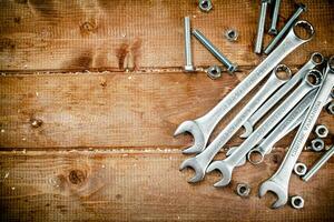
[{"label": "open-end wrench jaw, third from left among the lower jaws", "polygon": [[222,186],[226,186],[232,179],[232,171],[233,168],[223,161],[214,161],[212,164],[209,164],[209,167],[207,168],[206,172],[213,172],[213,171],[219,171],[223,175],[223,179],[219,180],[218,182],[216,182],[214,184],[215,188],[222,188]]}]

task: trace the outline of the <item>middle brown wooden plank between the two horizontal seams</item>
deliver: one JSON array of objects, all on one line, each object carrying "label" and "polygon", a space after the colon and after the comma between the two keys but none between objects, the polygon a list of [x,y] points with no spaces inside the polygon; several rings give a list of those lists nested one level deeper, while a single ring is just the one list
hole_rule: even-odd
[{"label": "middle brown wooden plank between the two horizontal seams", "polygon": [[[244,77],[226,74],[213,81],[205,74],[177,72],[4,75],[0,78],[0,148],[188,147],[190,135],[173,138],[178,124],[206,113]],[[33,127],[33,120],[42,123]],[[326,112],[320,119],[333,135],[332,120]],[[289,141],[291,137],[279,144]],[[228,145],[239,142],[235,137]]]}]

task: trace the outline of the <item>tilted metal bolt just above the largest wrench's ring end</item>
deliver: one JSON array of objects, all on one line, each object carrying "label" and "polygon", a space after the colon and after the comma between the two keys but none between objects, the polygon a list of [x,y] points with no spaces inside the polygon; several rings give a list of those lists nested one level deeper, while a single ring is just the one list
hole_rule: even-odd
[{"label": "tilted metal bolt just above the largest wrench's ring end", "polygon": [[288,29],[293,26],[293,23],[296,21],[296,19],[301,16],[302,12],[306,11],[306,7],[303,3],[298,4],[297,10],[295,13],[291,17],[291,19],[286,22],[286,24],[283,27],[283,29],[279,31],[279,33],[271,41],[271,43],[265,49],[264,53],[268,54],[273,51],[274,47],[278,43],[278,41],[283,38],[285,32],[288,31]]}]

